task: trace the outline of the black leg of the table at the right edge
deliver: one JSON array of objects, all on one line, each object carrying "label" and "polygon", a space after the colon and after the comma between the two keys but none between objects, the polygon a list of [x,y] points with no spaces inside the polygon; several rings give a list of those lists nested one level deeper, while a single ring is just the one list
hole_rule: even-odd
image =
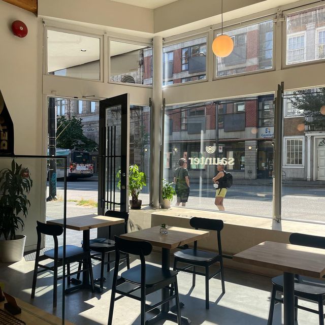
[{"label": "black leg of the table at the right edge", "polygon": [[283,309],[284,325],[294,325],[295,323],[295,275],[293,273],[283,273]]}]

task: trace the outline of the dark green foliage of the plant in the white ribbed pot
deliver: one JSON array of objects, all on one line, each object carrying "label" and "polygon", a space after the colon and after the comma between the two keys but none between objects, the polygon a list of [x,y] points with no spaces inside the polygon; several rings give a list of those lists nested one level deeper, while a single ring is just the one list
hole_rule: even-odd
[{"label": "dark green foliage of the plant in the white ribbed pot", "polygon": [[27,217],[30,202],[27,194],[32,187],[28,168],[22,167],[12,160],[11,169],[0,171],[0,237],[5,240],[16,239],[16,231],[24,229],[24,220],[18,215]]}]

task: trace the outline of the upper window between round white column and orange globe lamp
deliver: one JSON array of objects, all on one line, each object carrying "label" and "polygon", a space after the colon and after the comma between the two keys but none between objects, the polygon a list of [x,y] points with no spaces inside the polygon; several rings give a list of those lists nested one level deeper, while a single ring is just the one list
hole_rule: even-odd
[{"label": "upper window between round white column and orange globe lamp", "polygon": [[206,79],[207,38],[163,48],[163,85]]}]

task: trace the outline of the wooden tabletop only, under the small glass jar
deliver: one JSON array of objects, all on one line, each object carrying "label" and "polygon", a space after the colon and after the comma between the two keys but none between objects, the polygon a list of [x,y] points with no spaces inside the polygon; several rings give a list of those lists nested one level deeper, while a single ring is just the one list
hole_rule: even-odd
[{"label": "wooden tabletop only, under the small glass jar", "polygon": [[160,226],[140,230],[133,233],[121,235],[121,238],[131,240],[144,240],[151,243],[153,246],[173,249],[180,245],[192,243],[193,241],[209,236],[209,232],[195,229],[169,227],[168,234],[159,233]]}]

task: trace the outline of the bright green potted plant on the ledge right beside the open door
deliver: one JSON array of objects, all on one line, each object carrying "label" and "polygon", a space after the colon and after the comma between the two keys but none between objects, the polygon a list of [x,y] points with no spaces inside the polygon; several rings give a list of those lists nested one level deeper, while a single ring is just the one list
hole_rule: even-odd
[{"label": "bright green potted plant on the ledge right beside the open door", "polygon": [[[118,179],[117,187],[121,188],[121,171],[116,174]],[[142,187],[146,186],[146,174],[139,171],[138,165],[131,165],[128,174],[128,193],[131,196],[130,206],[131,209],[141,209],[142,200],[139,200],[139,194]]]}]

